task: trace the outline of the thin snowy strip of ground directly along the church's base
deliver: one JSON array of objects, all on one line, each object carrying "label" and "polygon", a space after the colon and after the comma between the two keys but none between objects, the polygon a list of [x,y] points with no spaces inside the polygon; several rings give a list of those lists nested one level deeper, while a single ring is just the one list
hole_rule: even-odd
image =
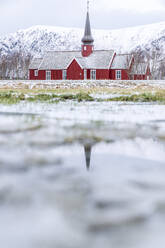
[{"label": "thin snowy strip of ground directly along the church's base", "polygon": [[98,80],[98,81],[22,81],[22,80],[1,80],[0,89],[67,89],[67,88],[124,88],[133,89],[138,86],[142,87],[157,87],[165,88],[165,81],[113,81],[113,80]]}]

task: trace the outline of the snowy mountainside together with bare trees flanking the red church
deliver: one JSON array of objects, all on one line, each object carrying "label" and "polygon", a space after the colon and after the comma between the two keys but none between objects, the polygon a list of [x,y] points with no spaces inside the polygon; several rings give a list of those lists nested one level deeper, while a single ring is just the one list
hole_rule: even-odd
[{"label": "snowy mountainside together with bare trees flanking the red church", "polygon": [[[0,78],[27,78],[33,56],[47,50],[77,50],[83,29],[34,26],[0,37]],[[93,30],[95,49],[118,53],[138,51],[137,59],[147,59],[153,78],[165,78],[165,22],[118,29]],[[3,56],[4,55],[4,56]]]}]

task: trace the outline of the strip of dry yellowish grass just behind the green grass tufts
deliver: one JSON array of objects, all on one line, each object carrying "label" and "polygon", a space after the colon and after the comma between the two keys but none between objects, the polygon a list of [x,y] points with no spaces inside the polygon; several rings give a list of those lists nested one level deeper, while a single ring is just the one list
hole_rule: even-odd
[{"label": "strip of dry yellowish grass just behind the green grass tufts", "polygon": [[151,85],[146,82],[137,84],[136,82],[122,83],[87,83],[87,84],[46,84],[36,83],[31,88],[31,85],[21,82],[15,82],[12,85],[0,85],[0,93],[17,93],[17,94],[119,94],[119,95],[134,95],[134,94],[160,94],[165,95],[165,86]]}]

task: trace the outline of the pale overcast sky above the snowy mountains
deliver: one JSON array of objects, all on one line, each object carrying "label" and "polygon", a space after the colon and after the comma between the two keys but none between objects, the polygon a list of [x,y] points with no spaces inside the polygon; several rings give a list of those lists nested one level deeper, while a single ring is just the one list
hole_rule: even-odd
[{"label": "pale overcast sky above the snowy mountains", "polygon": [[[165,0],[91,0],[93,28],[165,21]],[[84,27],[86,0],[0,0],[0,34],[33,25]]]}]

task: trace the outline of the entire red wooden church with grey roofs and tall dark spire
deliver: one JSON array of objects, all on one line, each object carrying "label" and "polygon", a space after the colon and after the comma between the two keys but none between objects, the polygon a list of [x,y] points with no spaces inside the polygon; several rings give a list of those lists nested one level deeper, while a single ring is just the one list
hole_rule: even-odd
[{"label": "entire red wooden church with grey roofs and tall dark spire", "polygon": [[48,51],[34,58],[29,68],[30,80],[145,80],[150,79],[146,63],[136,64],[130,54],[113,50],[95,50],[87,11],[81,51]]}]

